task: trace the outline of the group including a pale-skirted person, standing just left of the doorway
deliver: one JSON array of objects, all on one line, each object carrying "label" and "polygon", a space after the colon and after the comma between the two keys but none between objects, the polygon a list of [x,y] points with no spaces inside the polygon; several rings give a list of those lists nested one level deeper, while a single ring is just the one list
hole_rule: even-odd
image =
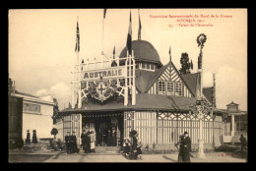
[{"label": "group including a pale-skirted person, standing just left of the doorway", "polygon": [[81,140],[85,153],[96,152],[96,134],[94,131],[84,130]]}]

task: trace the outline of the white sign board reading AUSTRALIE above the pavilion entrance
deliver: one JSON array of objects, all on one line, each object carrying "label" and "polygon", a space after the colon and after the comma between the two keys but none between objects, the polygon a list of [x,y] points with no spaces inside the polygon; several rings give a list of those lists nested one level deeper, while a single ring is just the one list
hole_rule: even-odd
[{"label": "white sign board reading AUSTRALIE above the pavilion entrance", "polygon": [[102,79],[124,78],[125,67],[114,67],[102,70],[84,71],[81,73],[81,81],[95,81]]}]

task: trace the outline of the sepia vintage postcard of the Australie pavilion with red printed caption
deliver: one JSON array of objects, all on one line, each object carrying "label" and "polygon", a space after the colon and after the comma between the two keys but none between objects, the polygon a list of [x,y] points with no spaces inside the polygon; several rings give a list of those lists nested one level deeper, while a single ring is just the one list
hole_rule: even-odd
[{"label": "sepia vintage postcard of the Australie pavilion with red printed caption", "polygon": [[247,162],[247,9],[9,10],[9,162]]}]

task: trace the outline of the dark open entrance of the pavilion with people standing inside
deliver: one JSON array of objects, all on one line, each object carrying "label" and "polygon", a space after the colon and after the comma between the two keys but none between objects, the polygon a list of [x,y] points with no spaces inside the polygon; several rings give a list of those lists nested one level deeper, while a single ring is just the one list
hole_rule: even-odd
[{"label": "dark open entrance of the pavilion with people standing inside", "polygon": [[96,134],[96,146],[120,146],[123,139],[123,115],[85,115],[84,129]]}]

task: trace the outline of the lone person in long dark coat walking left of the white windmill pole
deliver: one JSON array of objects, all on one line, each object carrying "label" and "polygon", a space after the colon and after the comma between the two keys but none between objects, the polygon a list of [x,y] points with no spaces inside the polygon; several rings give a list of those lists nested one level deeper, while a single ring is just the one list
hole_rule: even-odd
[{"label": "lone person in long dark coat walking left of the white windmill pole", "polygon": [[182,162],[191,162],[190,161],[190,152],[191,152],[191,140],[187,132],[184,132],[184,138],[181,142],[181,153],[182,153]]}]

